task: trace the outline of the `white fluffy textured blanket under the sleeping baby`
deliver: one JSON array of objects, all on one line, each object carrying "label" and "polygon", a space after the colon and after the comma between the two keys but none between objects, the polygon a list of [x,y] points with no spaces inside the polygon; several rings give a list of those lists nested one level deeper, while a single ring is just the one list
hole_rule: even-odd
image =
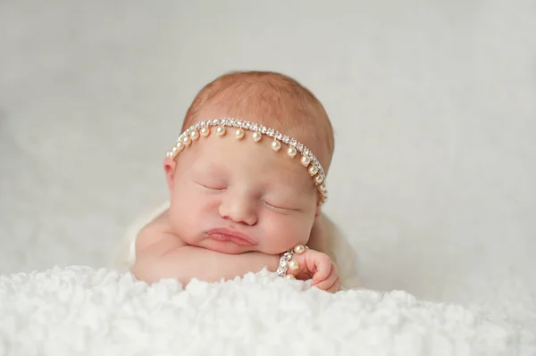
[{"label": "white fluffy textured blanket under the sleeping baby", "polygon": [[71,267],[0,277],[0,355],[535,355],[528,324],[262,271],[153,286]]}]

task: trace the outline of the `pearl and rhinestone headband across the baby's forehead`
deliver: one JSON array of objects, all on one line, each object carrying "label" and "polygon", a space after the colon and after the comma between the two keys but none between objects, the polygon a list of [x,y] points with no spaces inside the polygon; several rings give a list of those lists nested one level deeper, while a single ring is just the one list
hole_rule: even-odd
[{"label": "pearl and rhinestone headband across the baby's forehead", "polygon": [[314,184],[318,188],[320,193],[321,203],[324,203],[328,198],[328,190],[325,184],[325,173],[322,169],[320,162],[314,157],[314,154],[301,144],[295,138],[285,136],[281,132],[268,128],[264,125],[256,124],[255,122],[249,122],[244,120],[237,120],[231,118],[225,119],[213,119],[197,122],[197,124],[190,126],[177,138],[177,143],[172,147],[170,151],[166,153],[166,156],[173,160],[177,155],[182,152],[186,147],[192,144],[193,141],[197,141],[199,137],[207,137],[210,135],[211,128],[216,127],[216,135],[222,137],[226,133],[226,128],[236,128],[235,137],[242,139],[245,137],[244,130],[252,131],[253,141],[259,142],[263,135],[272,137],[272,150],[277,152],[281,149],[281,142],[288,145],[287,156],[294,158],[297,153],[301,153],[299,162],[302,166],[306,167],[309,175],[313,177]]}]

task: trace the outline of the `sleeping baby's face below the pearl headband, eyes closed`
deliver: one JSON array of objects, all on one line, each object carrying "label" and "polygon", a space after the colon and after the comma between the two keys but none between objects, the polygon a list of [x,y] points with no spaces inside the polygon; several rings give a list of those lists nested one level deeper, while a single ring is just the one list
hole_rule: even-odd
[{"label": "sleeping baby's face below the pearl headband, eyes closed", "polygon": [[[284,146],[255,143],[212,128],[164,166],[173,233],[187,244],[221,253],[282,253],[306,244],[319,212],[313,179]],[[176,162],[176,168],[175,168]]]}]

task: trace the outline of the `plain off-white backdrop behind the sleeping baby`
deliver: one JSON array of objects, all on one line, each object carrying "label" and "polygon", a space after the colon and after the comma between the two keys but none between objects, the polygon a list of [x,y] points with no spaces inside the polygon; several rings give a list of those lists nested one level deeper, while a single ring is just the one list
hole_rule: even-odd
[{"label": "plain off-white backdrop behind the sleeping baby", "polygon": [[0,273],[108,265],[197,90],[277,70],[331,116],[364,286],[533,306],[536,3],[319,4],[2,2]]}]

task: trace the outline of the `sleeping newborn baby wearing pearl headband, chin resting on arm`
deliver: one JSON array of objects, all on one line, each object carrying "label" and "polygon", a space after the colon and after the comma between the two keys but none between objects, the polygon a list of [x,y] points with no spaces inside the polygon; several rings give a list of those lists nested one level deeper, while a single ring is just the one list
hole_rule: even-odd
[{"label": "sleeping newborn baby wearing pearl headband, chin resting on arm", "polygon": [[132,272],[209,282],[267,268],[336,292],[322,216],[334,138],[322,104],[274,72],[206,85],[163,162],[170,202],[136,234]]}]

